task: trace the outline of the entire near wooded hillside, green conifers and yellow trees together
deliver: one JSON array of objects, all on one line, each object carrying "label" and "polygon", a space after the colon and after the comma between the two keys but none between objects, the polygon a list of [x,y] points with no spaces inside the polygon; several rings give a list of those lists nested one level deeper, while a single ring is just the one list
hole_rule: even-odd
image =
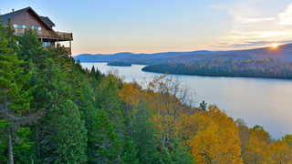
[{"label": "entire near wooded hillside, green conifers and yellow trees together", "polygon": [[143,89],[63,54],[0,26],[0,163],[292,163],[292,135],[193,108],[169,77]]}]

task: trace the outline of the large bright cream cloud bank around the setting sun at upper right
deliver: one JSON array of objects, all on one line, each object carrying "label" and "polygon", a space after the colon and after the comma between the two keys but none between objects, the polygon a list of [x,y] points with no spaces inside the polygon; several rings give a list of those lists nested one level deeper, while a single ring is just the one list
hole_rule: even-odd
[{"label": "large bright cream cloud bank around the setting sun at upper right", "polygon": [[[272,2],[272,0],[271,0]],[[273,1],[274,2],[274,1]],[[213,5],[232,18],[228,32],[220,38],[220,47],[243,48],[291,43],[292,3],[282,11],[267,10],[262,0],[235,1],[230,5]]]}]

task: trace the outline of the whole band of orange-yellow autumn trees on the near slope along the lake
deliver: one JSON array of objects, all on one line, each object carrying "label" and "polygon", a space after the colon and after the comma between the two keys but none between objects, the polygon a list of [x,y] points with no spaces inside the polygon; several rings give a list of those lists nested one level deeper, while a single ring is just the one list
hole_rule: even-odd
[{"label": "whole band of orange-yellow autumn trees on the near slope along the lake", "polygon": [[131,107],[146,103],[162,144],[183,139],[199,164],[292,164],[292,135],[273,141],[264,128],[235,123],[215,106],[206,111],[187,107],[172,94],[177,86],[163,78],[154,78],[148,89],[124,84],[118,93]]}]

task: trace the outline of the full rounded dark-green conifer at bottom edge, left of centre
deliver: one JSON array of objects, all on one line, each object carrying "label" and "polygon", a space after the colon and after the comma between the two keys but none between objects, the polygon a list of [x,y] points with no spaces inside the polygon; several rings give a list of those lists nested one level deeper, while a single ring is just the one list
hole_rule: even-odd
[{"label": "full rounded dark-green conifer at bottom edge, left of centre", "polygon": [[87,130],[78,107],[68,100],[54,110],[50,121],[55,134],[49,138],[51,145],[56,144],[51,154],[54,163],[86,163]]}]

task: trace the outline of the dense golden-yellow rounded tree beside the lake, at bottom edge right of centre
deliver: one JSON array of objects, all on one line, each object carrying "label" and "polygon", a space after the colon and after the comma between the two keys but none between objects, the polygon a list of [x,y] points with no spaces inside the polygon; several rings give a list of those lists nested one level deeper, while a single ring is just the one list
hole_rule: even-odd
[{"label": "dense golden-yellow rounded tree beside the lake, at bottom edge right of centre", "polygon": [[[209,110],[200,113],[201,120],[198,132],[190,139],[191,153],[197,163],[202,164],[240,164],[240,138],[238,128],[232,118],[228,118],[220,109],[210,106]],[[206,121],[206,122],[203,122]]]}]

